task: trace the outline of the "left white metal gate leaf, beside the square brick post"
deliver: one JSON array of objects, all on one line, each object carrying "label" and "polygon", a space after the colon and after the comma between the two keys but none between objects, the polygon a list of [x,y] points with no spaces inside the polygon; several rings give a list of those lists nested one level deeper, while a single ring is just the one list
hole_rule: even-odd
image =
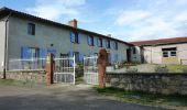
[{"label": "left white metal gate leaf, beside the square brick post", "polygon": [[75,85],[75,56],[54,58],[54,82]]}]

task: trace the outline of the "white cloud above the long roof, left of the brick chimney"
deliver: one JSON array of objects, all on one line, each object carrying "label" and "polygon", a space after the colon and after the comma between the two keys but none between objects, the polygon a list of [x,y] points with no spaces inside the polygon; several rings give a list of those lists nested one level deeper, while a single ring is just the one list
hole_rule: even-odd
[{"label": "white cloud above the long roof, left of the brick chimney", "polygon": [[63,15],[78,15],[79,7],[85,3],[86,0],[37,0],[36,6],[26,11],[41,18],[58,20]]}]

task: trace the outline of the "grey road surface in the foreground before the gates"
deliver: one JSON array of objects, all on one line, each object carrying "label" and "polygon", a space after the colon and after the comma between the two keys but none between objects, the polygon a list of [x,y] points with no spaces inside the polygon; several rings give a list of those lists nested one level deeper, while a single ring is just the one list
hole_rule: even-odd
[{"label": "grey road surface in the foreground before the gates", "polygon": [[0,110],[163,110],[108,100],[88,86],[0,85]]}]

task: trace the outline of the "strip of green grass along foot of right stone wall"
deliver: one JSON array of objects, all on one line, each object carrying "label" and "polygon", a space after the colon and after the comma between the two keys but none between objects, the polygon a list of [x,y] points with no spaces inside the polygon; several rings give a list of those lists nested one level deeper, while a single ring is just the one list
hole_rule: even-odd
[{"label": "strip of green grass along foot of right stone wall", "polygon": [[161,95],[161,94],[151,94],[144,91],[124,91],[123,89],[108,87],[105,89],[95,89],[105,96],[111,96],[116,99],[120,99],[127,102],[135,102],[143,105],[167,105],[167,106],[187,106],[187,96],[182,95]]}]

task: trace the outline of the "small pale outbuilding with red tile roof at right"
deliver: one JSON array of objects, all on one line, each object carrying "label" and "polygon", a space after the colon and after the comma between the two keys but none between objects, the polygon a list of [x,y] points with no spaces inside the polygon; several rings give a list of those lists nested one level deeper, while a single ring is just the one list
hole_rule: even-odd
[{"label": "small pale outbuilding with red tile roof at right", "polygon": [[187,64],[187,37],[131,42],[131,59],[151,64]]}]

